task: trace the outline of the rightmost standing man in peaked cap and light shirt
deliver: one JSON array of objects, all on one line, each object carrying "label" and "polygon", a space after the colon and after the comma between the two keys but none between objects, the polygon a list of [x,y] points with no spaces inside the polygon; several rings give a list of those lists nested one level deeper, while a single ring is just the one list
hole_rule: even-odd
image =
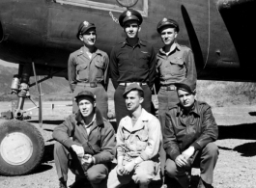
[{"label": "rightmost standing man in peaked cap and light shirt", "polygon": [[[164,44],[156,55],[158,119],[163,128],[166,111],[179,102],[176,84],[185,79],[195,82],[197,74],[191,49],[176,41],[180,31],[178,22],[164,17],[158,22],[156,31]],[[166,155],[163,148],[160,153],[162,173],[164,173],[163,165]]]}]

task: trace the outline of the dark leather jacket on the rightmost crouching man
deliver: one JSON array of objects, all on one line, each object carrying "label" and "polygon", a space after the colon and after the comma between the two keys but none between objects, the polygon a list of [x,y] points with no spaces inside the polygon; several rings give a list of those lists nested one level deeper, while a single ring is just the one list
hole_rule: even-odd
[{"label": "dark leather jacket on the rightmost crouching man", "polygon": [[211,107],[205,102],[195,101],[187,115],[180,104],[170,107],[166,113],[163,148],[172,160],[186,148],[202,149],[217,137],[217,124]]}]

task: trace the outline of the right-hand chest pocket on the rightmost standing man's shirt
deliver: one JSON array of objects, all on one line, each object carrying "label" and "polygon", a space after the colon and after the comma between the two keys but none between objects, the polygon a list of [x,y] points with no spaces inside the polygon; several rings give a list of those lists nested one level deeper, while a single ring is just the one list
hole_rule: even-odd
[{"label": "right-hand chest pocket on the rightmost standing man's shirt", "polygon": [[175,58],[170,62],[170,72],[174,76],[185,76],[185,62],[182,58]]}]

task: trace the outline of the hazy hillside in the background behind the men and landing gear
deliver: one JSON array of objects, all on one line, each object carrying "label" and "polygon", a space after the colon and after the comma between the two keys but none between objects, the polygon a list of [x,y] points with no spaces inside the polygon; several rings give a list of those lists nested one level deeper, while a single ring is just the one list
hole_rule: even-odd
[{"label": "hazy hillside in the background behind the men and landing gear", "polygon": [[[0,101],[10,101],[16,96],[9,94],[15,67],[4,67],[0,65]],[[43,78],[43,77],[42,77]],[[31,77],[30,82],[34,82]],[[65,78],[53,77],[42,83],[43,100],[71,100],[69,82]],[[108,98],[113,99],[114,88],[110,81],[108,86]],[[37,100],[38,92],[36,87],[30,89],[31,96]],[[249,82],[224,82],[224,81],[203,81],[197,82],[197,99],[204,100],[213,106],[252,104],[255,103],[256,84]]]}]

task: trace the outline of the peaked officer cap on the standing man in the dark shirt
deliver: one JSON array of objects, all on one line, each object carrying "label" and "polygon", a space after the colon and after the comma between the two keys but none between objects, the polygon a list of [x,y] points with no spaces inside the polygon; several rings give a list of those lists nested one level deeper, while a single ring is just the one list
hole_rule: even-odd
[{"label": "peaked officer cap on the standing man in the dark shirt", "polygon": [[122,27],[124,27],[125,22],[127,22],[128,20],[136,20],[140,25],[143,21],[143,18],[139,12],[132,9],[128,9],[127,11],[120,14],[119,23]]}]

